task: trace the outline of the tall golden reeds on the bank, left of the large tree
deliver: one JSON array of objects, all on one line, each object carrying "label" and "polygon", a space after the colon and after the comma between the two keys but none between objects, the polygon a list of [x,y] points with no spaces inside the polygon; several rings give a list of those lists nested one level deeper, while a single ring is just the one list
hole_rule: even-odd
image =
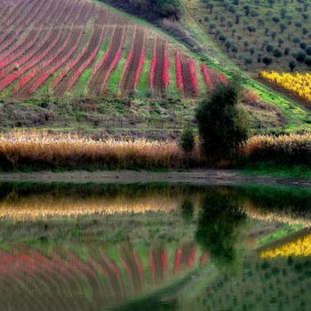
[{"label": "tall golden reeds on the bank, left of the large tree", "polygon": [[[72,134],[10,132],[0,135],[0,159],[7,167],[94,165],[108,168],[180,168],[198,166],[198,148],[189,154],[177,142],[151,140],[92,140]],[[4,168],[5,169],[5,168]]]}]

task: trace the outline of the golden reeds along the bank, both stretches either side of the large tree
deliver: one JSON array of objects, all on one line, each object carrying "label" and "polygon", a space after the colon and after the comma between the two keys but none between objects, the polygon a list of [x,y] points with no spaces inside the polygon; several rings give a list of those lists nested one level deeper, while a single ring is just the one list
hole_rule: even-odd
[{"label": "golden reeds along the bank, both stretches either side of the large tree", "polygon": [[[226,157],[226,156],[224,156]],[[311,133],[254,136],[237,160],[311,164]],[[200,148],[186,154],[176,141],[92,140],[73,134],[8,132],[0,134],[0,165],[20,168],[143,168],[179,169],[206,165]]]}]

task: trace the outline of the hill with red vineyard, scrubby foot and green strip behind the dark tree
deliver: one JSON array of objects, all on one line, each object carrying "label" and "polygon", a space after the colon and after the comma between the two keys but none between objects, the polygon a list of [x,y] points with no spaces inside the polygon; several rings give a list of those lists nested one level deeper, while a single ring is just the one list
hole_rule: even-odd
[{"label": "hill with red vineyard, scrubby foot and green strip behind the dark tree", "polygon": [[102,2],[56,3],[32,10],[33,2],[15,1],[0,10],[4,130],[176,138],[193,122],[197,100],[234,71],[258,93],[243,102],[252,132],[311,130],[307,108],[251,80],[213,43],[195,15],[206,10],[202,2],[184,2],[182,20],[156,27]]}]

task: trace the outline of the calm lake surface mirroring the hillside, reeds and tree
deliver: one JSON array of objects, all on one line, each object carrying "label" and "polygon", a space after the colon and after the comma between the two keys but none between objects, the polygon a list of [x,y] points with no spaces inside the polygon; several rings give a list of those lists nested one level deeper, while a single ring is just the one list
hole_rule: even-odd
[{"label": "calm lake surface mirroring the hillside, reeds and tree", "polygon": [[309,310],[311,189],[0,184],[0,310]]}]

